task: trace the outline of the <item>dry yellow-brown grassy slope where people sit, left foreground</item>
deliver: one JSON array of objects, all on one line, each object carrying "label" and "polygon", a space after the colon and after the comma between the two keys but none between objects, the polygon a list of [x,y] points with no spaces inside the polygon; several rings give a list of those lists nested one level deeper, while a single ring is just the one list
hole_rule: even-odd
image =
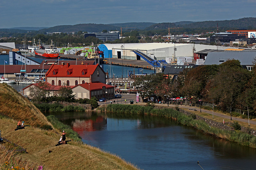
[{"label": "dry yellow-brown grassy slope where people sit, left foreground", "polygon": [[[20,155],[23,159],[28,159],[38,165],[45,164],[45,169],[136,169],[122,159],[89,145],[71,142],[71,145],[55,147],[61,134],[54,130],[45,131],[31,126],[14,131],[17,120],[12,119],[12,117],[15,119],[28,117],[27,121],[35,126],[38,123],[50,123],[47,122],[46,117],[40,111],[17,94],[15,90],[0,84],[0,92],[2,94],[0,105],[4,105],[4,110],[1,109],[0,113],[11,117],[0,119],[2,136],[27,149],[27,154]],[[3,96],[7,97],[7,100]],[[19,111],[15,112],[14,106]],[[35,120],[29,120],[30,117],[35,117]],[[52,152],[49,153],[49,150]]]}]

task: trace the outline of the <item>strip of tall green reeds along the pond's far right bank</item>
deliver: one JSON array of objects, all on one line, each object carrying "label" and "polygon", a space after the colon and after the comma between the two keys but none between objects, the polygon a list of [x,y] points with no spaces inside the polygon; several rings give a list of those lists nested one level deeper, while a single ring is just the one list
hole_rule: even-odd
[{"label": "strip of tall green reeds along the pond's far right bank", "polygon": [[[104,111],[104,107],[98,108]],[[154,109],[152,106],[140,105],[124,105],[124,104],[109,104],[106,108],[108,112],[119,114],[150,114],[158,117],[172,118],[179,124],[192,126],[195,129],[202,131],[205,134],[213,135],[218,138],[224,138],[240,145],[256,148],[256,137],[241,131],[222,130],[216,127],[209,127],[203,120],[195,119],[195,115],[186,115],[174,109]]]}]

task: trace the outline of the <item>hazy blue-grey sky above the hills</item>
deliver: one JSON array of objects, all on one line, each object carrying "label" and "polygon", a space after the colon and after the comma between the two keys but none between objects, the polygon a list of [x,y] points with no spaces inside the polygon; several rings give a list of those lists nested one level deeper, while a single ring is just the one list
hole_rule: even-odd
[{"label": "hazy blue-grey sky above the hills", "polygon": [[0,28],[256,17],[256,0],[1,0]]}]

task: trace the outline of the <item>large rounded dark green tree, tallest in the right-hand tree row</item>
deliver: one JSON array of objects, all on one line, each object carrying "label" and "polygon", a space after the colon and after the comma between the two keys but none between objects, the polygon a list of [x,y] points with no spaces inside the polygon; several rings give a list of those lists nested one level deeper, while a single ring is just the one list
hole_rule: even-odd
[{"label": "large rounded dark green tree, tallest in the right-hand tree row", "polygon": [[219,103],[222,110],[234,108],[236,98],[250,79],[250,72],[242,68],[239,60],[228,60],[219,66],[217,74],[207,83],[206,97],[208,101],[214,99]]}]

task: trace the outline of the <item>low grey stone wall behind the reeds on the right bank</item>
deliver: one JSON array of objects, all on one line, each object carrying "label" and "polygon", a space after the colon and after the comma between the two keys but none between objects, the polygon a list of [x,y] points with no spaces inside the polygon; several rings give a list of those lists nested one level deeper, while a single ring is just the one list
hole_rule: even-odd
[{"label": "low grey stone wall behind the reeds on the right bank", "polygon": [[[184,113],[185,115],[192,114],[192,112],[189,112],[189,111],[186,111],[186,110],[182,110],[182,109],[180,109],[180,112]],[[226,124],[215,122],[215,121],[213,121],[211,119],[207,119],[207,118],[204,118],[204,117],[201,117],[201,116],[198,116],[198,115],[196,115],[196,119],[197,120],[203,120],[207,124],[209,124],[209,126],[212,126],[212,127],[217,127],[217,128],[223,129],[223,130],[234,131],[234,128],[231,126],[231,124],[232,124],[231,122],[228,122],[228,125],[229,125],[228,126]],[[249,133],[248,128],[244,127],[244,126],[241,126],[241,131],[245,132],[245,133]],[[256,131],[255,130],[251,129],[250,131],[251,132],[249,134],[256,136]]]}]

